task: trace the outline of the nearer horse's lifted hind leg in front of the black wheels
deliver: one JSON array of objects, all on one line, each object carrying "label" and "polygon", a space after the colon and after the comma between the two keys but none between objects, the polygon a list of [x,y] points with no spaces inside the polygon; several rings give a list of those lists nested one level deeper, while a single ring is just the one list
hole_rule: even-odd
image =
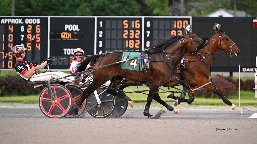
[{"label": "nearer horse's lifted hind leg in front of the black wheels", "polygon": [[[123,79],[123,77],[121,77],[121,76],[113,77],[112,80],[111,80],[110,86],[112,86],[113,88],[116,88],[118,86],[118,83],[120,83],[122,81],[122,79]],[[118,82],[118,83],[114,83],[114,81]],[[124,92],[120,92],[120,91],[117,91],[115,89],[107,89],[106,92],[108,94],[111,94],[111,95],[114,95],[116,97],[124,99],[126,102],[128,102],[128,105],[133,108],[134,102]]]}]

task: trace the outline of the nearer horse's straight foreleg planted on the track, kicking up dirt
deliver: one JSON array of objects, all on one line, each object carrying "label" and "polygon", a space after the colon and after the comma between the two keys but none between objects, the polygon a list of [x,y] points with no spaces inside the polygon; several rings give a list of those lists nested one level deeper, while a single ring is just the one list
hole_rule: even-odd
[{"label": "nearer horse's straight foreleg planted on the track, kicking up dirt", "polygon": [[147,102],[146,102],[145,109],[144,109],[144,116],[147,116],[149,119],[150,119],[150,117],[153,116],[149,113],[150,105],[155,96],[155,93],[158,93],[158,88],[160,87],[160,85],[161,84],[158,84],[158,83],[153,83],[153,82],[151,83],[151,87],[150,87],[149,94],[147,97]]}]

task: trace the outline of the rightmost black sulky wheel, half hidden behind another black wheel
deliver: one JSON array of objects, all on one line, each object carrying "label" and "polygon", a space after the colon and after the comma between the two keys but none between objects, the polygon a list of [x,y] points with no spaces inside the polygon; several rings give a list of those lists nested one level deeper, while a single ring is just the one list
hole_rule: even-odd
[{"label": "rightmost black sulky wheel, half hidden behind another black wheel", "polygon": [[128,107],[128,102],[126,102],[124,99],[116,97],[116,105],[114,107],[114,110],[112,112],[111,115],[109,115],[108,117],[120,117],[122,116]]}]

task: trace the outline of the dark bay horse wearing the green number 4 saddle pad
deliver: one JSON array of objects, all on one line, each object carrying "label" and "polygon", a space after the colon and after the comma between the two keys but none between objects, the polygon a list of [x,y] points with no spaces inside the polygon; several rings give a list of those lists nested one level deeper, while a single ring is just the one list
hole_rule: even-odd
[{"label": "dark bay horse wearing the green number 4 saddle pad", "polygon": [[[168,39],[162,39],[159,41],[159,45],[151,48],[149,51],[149,69],[147,70],[147,81],[151,84],[149,94],[147,97],[147,103],[144,110],[144,115],[148,118],[152,117],[149,113],[149,108],[155,94],[158,94],[160,86],[167,84],[176,85],[177,83],[187,86],[185,81],[178,81],[176,79],[177,65],[185,53],[199,52],[203,47],[203,41],[194,33],[188,32],[186,35],[170,36]],[[208,51],[203,48],[203,53],[209,55]],[[91,61],[91,66],[94,66],[94,79],[93,82],[84,90],[78,104],[74,107],[75,114],[77,115],[78,109],[82,102],[99,86],[106,81],[112,79],[110,86],[117,87],[116,82],[121,82],[123,78],[145,83],[145,74],[142,71],[127,70],[121,68],[119,61],[122,59],[123,52],[120,53],[105,53],[102,55],[93,55],[82,61],[77,71],[82,72]],[[183,83],[185,82],[185,83]],[[186,89],[181,93],[181,97],[185,97]],[[116,93],[115,96],[120,97],[116,92],[117,90],[108,90],[108,93]],[[178,109],[173,107],[170,110],[174,111],[174,114],[179,114]]]}]

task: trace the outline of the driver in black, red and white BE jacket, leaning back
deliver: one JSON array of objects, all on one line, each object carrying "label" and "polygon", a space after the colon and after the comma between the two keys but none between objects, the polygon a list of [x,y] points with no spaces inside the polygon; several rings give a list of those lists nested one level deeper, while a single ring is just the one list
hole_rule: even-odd
[{"label": "driver in black, red and white BE jacket, leaning back", "polygon": [[[50,63],[52,61],[53,58],[49,57],[42,64],[38,64],[38,59],[35,59],[33,63],[30,63],[28,61],[23,60],[26,54],[25,50],[27,50],[27,48],[25,48],[22,45],[16,45],[13,47],[12,50],[13,56],[16,57],[15,70],[23,80],[47,81],[55,78],[65,77],[59,80],[63,82],[74,81],[74,77],[66,77],[69,74],[63,73],[61,71],[47,72],[41,74],[36,73],[37,69],[42,69],[43,67],[45,67],[47,63]],[[78,85],[80,81],[74,81],[73,83]]]}]

